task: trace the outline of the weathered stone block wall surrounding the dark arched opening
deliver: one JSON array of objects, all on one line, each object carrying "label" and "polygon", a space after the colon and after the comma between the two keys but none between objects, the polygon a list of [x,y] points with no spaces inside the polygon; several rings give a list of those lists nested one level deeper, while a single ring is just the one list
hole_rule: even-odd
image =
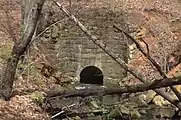
[{"label": "weathered stone block wall surrounding the dark arched opening", "polygon": [[[76,17],[109,51],[127,62],[127,42],[121,33],[112,28],[112,23],[125,27],[122,13],[99,8]],[[88,65],[95,65],[103,71],[106,84],[117,84],[126,76],[126,71],[89,40],[71,20],[56,24],[40,38],[39,43],[43,43],[49,51],[47,56],[54,60],[53,65],[70,77],[79,76],[80,71]]]}]

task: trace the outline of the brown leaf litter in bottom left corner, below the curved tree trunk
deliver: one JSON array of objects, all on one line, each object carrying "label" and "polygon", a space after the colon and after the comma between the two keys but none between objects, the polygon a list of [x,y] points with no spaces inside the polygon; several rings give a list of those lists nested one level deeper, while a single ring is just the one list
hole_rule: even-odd
[{"label": "brown leaf litter in bottom left corner, below the curved tree trunk", "polygon": [[3,120],[48,120],[48,115],[42,113],[28,95],[15,96],[11,101],[0,100],[0,119]]}]

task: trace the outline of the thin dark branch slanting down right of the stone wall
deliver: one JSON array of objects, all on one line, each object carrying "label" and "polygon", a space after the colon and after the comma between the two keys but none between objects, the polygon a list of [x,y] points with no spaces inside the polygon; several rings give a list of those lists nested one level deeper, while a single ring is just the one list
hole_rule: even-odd
[{"label": "thin dark branch slanting down right of the stone wall", "polygon": [[[158,72],[163,78],[168,78],[166,74],[162,71],[160,65],[157,64],[157,62],[150,56],[150,54],[146,53],[146,51],[141,47],[141,45],[133,38],[131,35],[129,35],[127,32],[125,32],[123,29],[118,28],[116,25],[113,25],[114,28],[116,28],[118,31],[123,32],[130,40],[132,40],[136,47],[141,51],[141,53],[156,67]],[[175,93],[177,98],[181,101],[181,94],[177,91],[177,89],[173,86],[170,86],[171,90]]]}]

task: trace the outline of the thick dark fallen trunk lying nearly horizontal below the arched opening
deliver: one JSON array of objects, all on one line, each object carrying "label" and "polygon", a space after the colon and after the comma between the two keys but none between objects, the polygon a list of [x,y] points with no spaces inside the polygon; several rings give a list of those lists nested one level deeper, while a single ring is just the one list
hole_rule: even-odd
[{"label": "thick dark fallen trunk lying nearly horizontal below the arched opening", "polygon": [[102,88],[95,87],[90,89],[80,89],[71,91],[59,91],[59,92],[49,92],[47,93],[47,98],[51,97],[87,97],[87,96],[104,96],[112,94],[123,94],[123,93],[136,93],[144,92],[147,90],[159,89],[162,87],[174,86],[181,84],[181,76],[177,78],[165,78],[160,80],[155,80],[153,82],[122,86],[119,88]]}]

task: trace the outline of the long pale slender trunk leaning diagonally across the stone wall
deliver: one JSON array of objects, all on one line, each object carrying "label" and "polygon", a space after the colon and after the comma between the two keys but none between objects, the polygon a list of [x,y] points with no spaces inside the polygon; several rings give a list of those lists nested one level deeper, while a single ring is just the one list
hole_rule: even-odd
[{"label": "long pale slender trunk leaning diagonally across the stone wall", "polygon": [[[115,57],[112,52],[108,52],[108,50],[104,49],[104,45],[101,45],[97,42],[97,37],[91,35],[91,33],[87,30],[87,28],[85,28],[82,23],[80,23],[80,21],[78,21],[78,19],[74,16],[71,15],[59,2],[53,0],[53,2],[68,16],[70,17],[78,26],[79,28],[89,37],[89,39],[95,44],[97,45],[99,48],[101,48],[107,55],[109,55],[118,65],[120,65],[122,68],[124,68],[125,70],[127,70],[129,73],[131,73],[133,76],[135,76],[137,79],[139,79],[142,82],[146,82],[146,79],[143,77],[142,74],[138,73],[134,68],[132,67],[128,67],[128,65],[121,60],[118,57]],[[157,92],[157,94],[161,95],[163,98],[165,98],[166,100],[168,100],[170,103],[172,103],[173,105],[175,105],[176,107],[178,107],[181,110],[181,105],[179,105],[179,102],[175,102],[175,99],[173,99],[168,93],[164,92],[163,89],[157,89],[154,90],[155,92]]]}]

